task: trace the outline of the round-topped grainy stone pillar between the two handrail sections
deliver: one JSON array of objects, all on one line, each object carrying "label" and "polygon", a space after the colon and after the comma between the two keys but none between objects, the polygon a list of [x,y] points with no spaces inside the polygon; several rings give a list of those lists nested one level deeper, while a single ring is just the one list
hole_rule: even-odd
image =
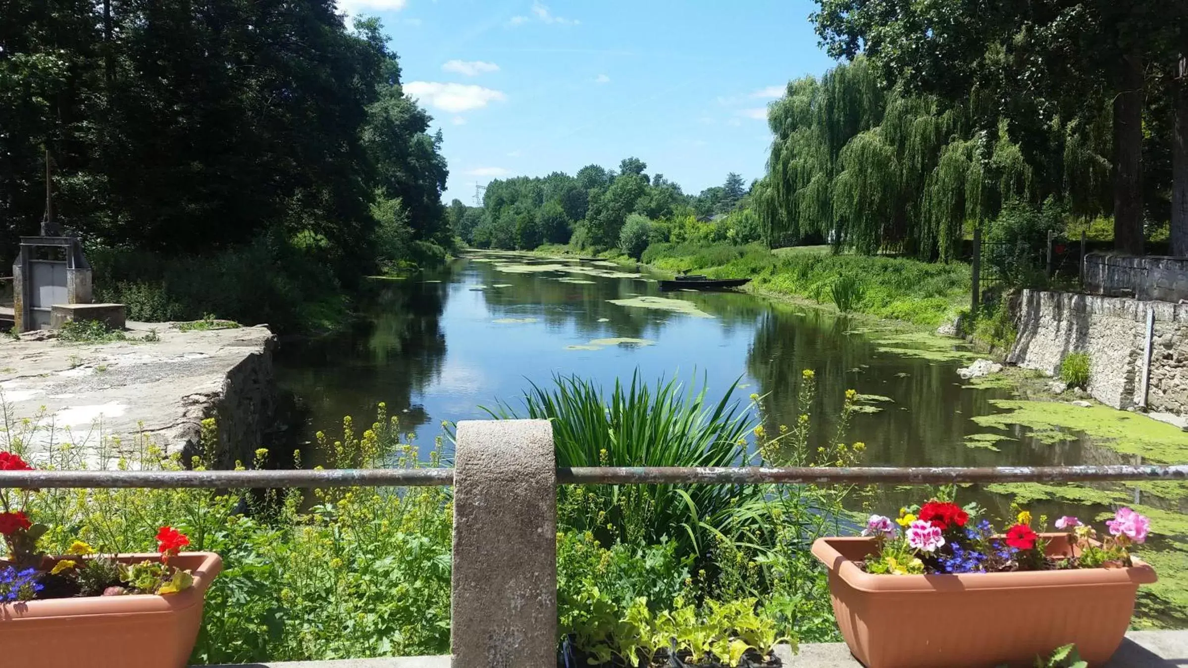
[{"label": "round-topped grainy stone pillar between the two handrail sections", "polygon": [[548,420],[459,422],[454,668],[557,661],[557,464]]}]

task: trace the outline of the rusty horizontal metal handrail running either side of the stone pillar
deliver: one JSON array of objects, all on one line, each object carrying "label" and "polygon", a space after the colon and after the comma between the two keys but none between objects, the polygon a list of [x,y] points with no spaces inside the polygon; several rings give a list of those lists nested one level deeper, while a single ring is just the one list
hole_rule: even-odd
[{"label": "rusty horizontal metal handrail running either side of the stone pillar", "polygon": [[[944,484],[1088,481],[1183,481],[1188,465],[1113,466],[574,466],[558,484]],[[0,471],[0,489],[247,489],[432,486],[454,484],[454,469],[299,469],[268,471]]]}]

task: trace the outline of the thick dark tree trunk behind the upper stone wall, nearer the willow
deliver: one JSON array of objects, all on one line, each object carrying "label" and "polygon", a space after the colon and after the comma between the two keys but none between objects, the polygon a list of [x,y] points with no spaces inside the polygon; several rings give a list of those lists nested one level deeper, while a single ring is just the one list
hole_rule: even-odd
[{"label": "thick dark tree trunk behind the upper stone wall, nearer the willow", "polygon": [[1113,103],[1114,249],[1143,254],[1143,56],[1121,59]]}]

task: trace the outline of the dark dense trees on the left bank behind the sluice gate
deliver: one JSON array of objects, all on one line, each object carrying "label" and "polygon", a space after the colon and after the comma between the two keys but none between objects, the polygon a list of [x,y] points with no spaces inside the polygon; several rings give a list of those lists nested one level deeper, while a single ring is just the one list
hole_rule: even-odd
[{"label": "dark dense trees on the left bank behind the sluice gate", "polygon": [[[386,44],[377,20],[348,28],[333,0],[7,4],[6,261],[18,236],[38,230],[48,164],[56,221],[90,253],[119,259],[100,260],[96,288],[153,293],[170,305],[157,312],[201,317],[213,303],[220,316],[292,322],[273,312],[311,299],[311,286],[336,294],[377,260],[448,247],[441,136],[426,134],[430,117],[404,95]],[[129,253],[139,255],[131,268]],[[254,262],[270,268],[267,281],[304,285],[270,286],[285,295],[258,298],[251,308],[264,313],[251,316],[245,291],[257,281],[226,300],[213,286],[192,294],[201,287],[175,280],[173,260],[233,272]]]}]

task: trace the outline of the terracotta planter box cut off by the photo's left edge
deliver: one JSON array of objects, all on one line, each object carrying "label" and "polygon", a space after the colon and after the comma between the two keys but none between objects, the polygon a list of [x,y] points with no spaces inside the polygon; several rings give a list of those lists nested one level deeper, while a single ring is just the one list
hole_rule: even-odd
[{"label": "terracotta planter box cut off by the photo's left edge", "polygon": [[[120,556],[125,564],[159,554]],[[184,668],[202,625],[202,603],[222,559],[188,552],[170,560],[194,586],[169,596],[105,596],[0,604],[5,666]]]}]

